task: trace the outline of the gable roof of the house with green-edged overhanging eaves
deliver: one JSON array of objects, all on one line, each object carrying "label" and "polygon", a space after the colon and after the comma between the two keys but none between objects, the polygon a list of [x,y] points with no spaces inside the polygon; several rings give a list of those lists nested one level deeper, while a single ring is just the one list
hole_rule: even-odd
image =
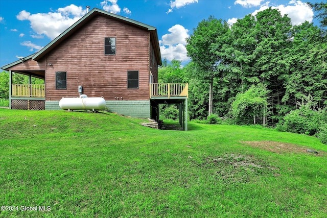
[{"label": "gable roof of the house with green-edged overhanging eaves", "polygon": [[[40,60],[42,57],[44,57],[46,54],[48,54],[52,49],[54,49],[58,44],[60,44],[63,40],[65,40],[67,37],[71,36],[74,34],[77,30],[79,30],[85,23],[87,23],[90,19],[97,15],[102,15],[105,17],[110,17],[112,19],[119,20],[121,22],[128,23],[129,25],[144,29],[149,31],[150,33],[150,38],[152,39],[152,45],[155,53],[155,57],[157,59],[158,65],[162,65],[161,63],[161,54],[160,54],[160,47],[159,47],[159,40],[158,40],[158,34],[157,34],[157,29],[155,27],[146,25],[145,23],[138,22],[120,15],[112,14],[107,11],[103,11],[98,8],[92,9],[90,12],[88,12],[86,15],[84,15],[81,19],[79,19],[76,23],[74,23],[71,27],[69,27],[67,30],[65,30],[63,33],[61,33],[59,36],[57,36],[54,40],[52,40],[49,44],[45,45],[43,49],[38,51],[37,53],[30,55],[28,57],[24,58],[24,61],[27,59],[32,58],[35,61]],[[22,60],[15,61],[11,64],[8,64],[4,67],[3,69],[9,68],[13,65],[16,65],[20,63]]]}]

